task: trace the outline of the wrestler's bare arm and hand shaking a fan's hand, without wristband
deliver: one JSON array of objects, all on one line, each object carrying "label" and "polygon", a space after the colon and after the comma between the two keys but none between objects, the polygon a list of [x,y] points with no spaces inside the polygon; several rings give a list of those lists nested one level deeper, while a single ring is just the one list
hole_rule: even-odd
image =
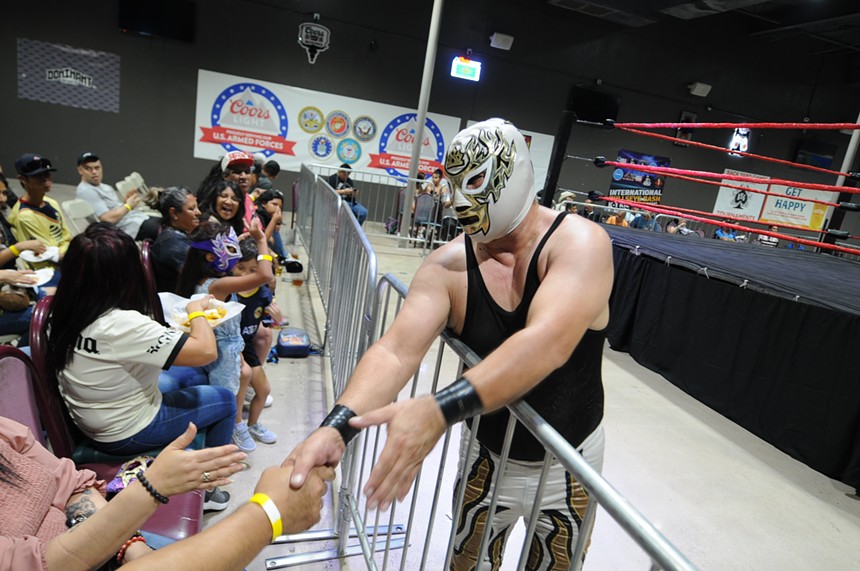
[{"label": "wrestler's bare arm and hand shaking a fan's hand, without wristband", "polygon": [[[446,285],[446,276],[451,273],[446,267],[450,255],[443,250],[446,248],[431,254],[416,272],[403,307],[385,335],[361,358],[337,404],[359,415],[383,407],[415,373],[430,344],[446,326],[450,312]],[[442,416],[438,411],[436,414],[444,432]],[[285,464],[295,465],[290,484],[301,487],[314,466],[336,466],[345,448],[337,430],[318,428],[287,457]]]}]

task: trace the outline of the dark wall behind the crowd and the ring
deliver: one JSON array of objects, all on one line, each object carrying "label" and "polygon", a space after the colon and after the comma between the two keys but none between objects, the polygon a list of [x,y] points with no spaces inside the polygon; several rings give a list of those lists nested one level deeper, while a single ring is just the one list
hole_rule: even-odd
[{"label": "dark wall behind the crowd and the ring", "polygon": [[[103,157],[108,182],[137,170],[152,184],[196,188],[210,165],[192,156],[201,68],[393,105],[417,105],[432,9],[429,0],[197,0],[193,43],[122,33],[117,27],[119,1],[45,1],[38,19],[30,5],[5,7],[6,21],[15,22],[0,38],[0,69],[7,78],[0,85],[6,129],[0,164],[7,173],[16,156],[38,151],[60,168],[57,181],[75,183],[75,157],[92,150]],[[298,25],[309,21],[312,12],[318,12],[332,32],[330,49],[315,65],[308,63],[296,43]],[[808,117],[813,122],[854,122],[860,93],[856,85],[844,83],[845,61],[817,54],[821,50],[808,42],[750,38],[746,26],[740,16],[723,14],[701,21],[667,19],[631,29],[540,1],[449,1],[443,12],[430,111],[463,120],[503,116],[524,129],[554,135],[571,85],[584,84],[620,95],[621,121],[675,121],[682,110],[689,110],[701,121]],[[515,37],[510,52],[489,47],[487,38],[495,31]],[[18,99],[13,79],[18,37],[118,54],[120,113]],[[451,58],[467,48],[484,62],[479,84],[448,76]],[[711,94],[705,99],[690,95],[686,86],[693,81],[713,85]],[[724,131],[700,130],[694,136],[721,146],[728,138]],[[848,137],[838,132],[757,132],[750,150],[792,159],[800,138],[837,144],[834,166],[841,165]],[[682,168],[732,167],[834,182],[832,176],[579,126],[573,129],[568,152],[614,158],[619,148],[669,156],[673,166]],[[608,170],[568,160],[559,185],[605,190],[608,181]],[[671,180],[664,200],[710,210],[715,196],[715,188]],[[849,215],[846,227],[860,224]]]}]

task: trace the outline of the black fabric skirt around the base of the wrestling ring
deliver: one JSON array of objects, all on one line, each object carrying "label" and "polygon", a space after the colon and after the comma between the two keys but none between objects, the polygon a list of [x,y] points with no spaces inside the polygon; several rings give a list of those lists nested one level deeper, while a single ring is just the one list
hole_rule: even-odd
[{"label": "black fabric skirt around the base of the wrestling ring", "polygon": [[613,349],[815,470],[860,487],[860,317],[618,246],[614,256]]}]

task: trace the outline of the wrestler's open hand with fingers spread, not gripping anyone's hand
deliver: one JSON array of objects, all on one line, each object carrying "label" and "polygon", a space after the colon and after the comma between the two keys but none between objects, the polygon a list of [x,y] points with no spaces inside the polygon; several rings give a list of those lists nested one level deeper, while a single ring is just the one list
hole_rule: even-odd
[{"label": "wrestler's open hand with fingers spread, not gripping anyone's hand", "polygon": [[447,428],[432,395],[397,402],[349,419],[353,428],[388,425],[385,448],[370,473],[364,493],[367,506],[388,509],[394,498],[403,500],[421,462]]}]

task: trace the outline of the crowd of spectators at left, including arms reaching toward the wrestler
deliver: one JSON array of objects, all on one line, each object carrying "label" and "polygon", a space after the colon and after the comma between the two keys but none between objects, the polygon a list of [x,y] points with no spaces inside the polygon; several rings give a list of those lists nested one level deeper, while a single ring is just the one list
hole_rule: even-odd
[{"label": "crowd of spectators at left, including arms reaching toward the wrestler", "polygon": [[[281,526],[299,531],[318,521],[331,469],[317,471],[314,485],[292,491],[291,468],[278,467],[258,483],[265,499],[254,501],[264,509],[243,507],[198,536],[155,552],[145,548],[146,538],[132,536],[174,494],[201,489],[204,509],[225,509],[230,496],[219,486],[242,469],[255,441],[277,441],[260,421],[271,404],[262,364],[272,346],[271,329],[261,324],[282,322],[273,301],[275,268],[286,258],[279,232],[284,195],[273,188],[277,163],[230,152],[196,193],[181,186],[159,189],[157,204],[148,209],[138,189],[120,195],[104,183],[99,157],[83,153],[77,159],[77,197],[90,204],[97,221],[76,236],[60,205],[47,196],[57,170],[51,161],[25,154],[15,169],[20,197],[0,172],[0,284],[14,284],[0,292],[0,335],[18,334],[24,347],[33,302],[53,295],[45,360],[74,424],[107,454],[163,451],[145,478],[105,502],[104,482],[92,472],[57,459],[24,427],[0,418],[0,501],[11,506],[21,500],[33,478],[55,490],[53,498],[40,495],[47,511],[0,525],[0,570],[94,569],[111,557],[133,565],[142,555],[150,565],[182,561],[184,568],[203,568],[205,546],[238,529],[268,530],[251,534],[232,558],[216,556],[206,565],[235,568]],[[152,317],[157,313],[137,243],[142,240],[151,242],[158,291],[195,297],[180,308],[186,317],[179,327]],[[12,307],[7,289],[23,296],[18,307]],[[244,307],[213,328],[207,310],[228,301]],[[253,394],[246,401],[248,387]],[[184,450],[197,430],[203,449]],[[66,533],[78,525],[89,531]],[[186,565],[192,560],[193,566]]]}]

